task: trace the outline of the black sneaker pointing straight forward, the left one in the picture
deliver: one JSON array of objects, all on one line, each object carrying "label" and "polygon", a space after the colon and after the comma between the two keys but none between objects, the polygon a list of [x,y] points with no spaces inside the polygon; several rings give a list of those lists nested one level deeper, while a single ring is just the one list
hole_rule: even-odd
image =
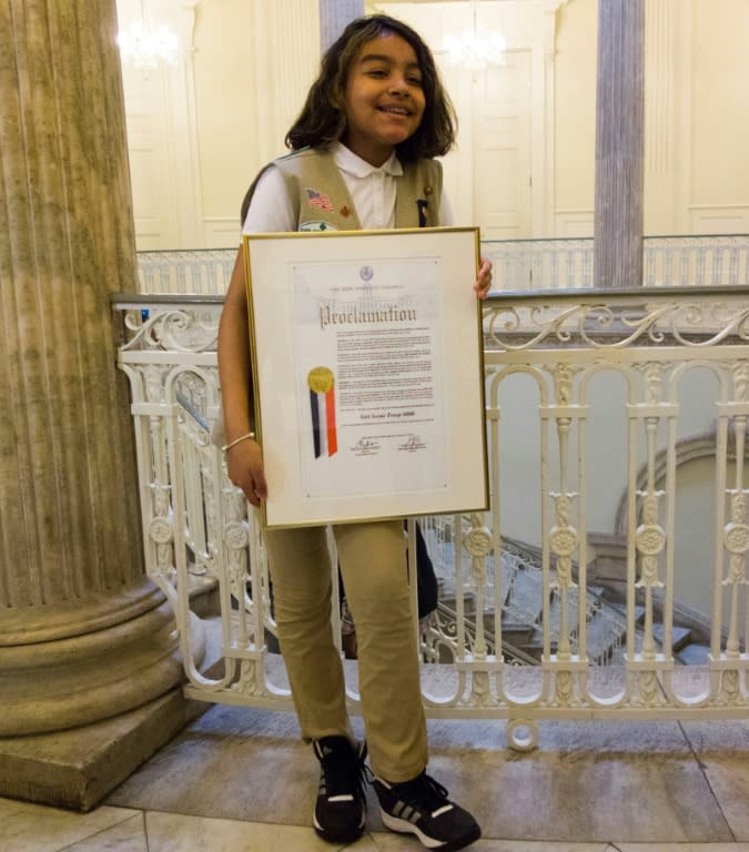
[{"label": "black sneaker pointing straight forward, the left one in the picture", "polygon": [[347,737],[322,737],[312,744],[321,767],[312,823],[323,840],[353,843],[362,836],[366,819],[366,743],[357,750]]}]

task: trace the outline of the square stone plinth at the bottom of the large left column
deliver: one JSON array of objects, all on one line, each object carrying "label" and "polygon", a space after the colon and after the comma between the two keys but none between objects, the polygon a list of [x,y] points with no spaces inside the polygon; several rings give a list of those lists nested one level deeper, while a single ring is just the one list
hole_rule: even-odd
[{"label": "square stone plinth at the bottom of the large left column", "polygon": [[136,710],[58,733],[0,738],[0,795],[90,811],[211,707],[176,687]]}]

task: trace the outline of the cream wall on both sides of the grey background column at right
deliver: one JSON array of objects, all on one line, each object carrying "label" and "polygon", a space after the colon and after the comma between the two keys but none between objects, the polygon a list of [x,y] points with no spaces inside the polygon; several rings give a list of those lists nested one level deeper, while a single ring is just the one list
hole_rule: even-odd
[{"label": "cream wall on both sides of the grey background column at right", "polygon": [[[559,11],[557,236],[593,234],[596,0]],[[749,3],[646,0],[645,233],[749,232]]]}]

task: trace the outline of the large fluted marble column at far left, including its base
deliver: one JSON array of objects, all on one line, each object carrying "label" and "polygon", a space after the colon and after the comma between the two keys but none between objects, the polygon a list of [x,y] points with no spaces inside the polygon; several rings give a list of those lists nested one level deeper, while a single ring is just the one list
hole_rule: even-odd
[{"label": "large fluted marble column at far left, including its base", "polygon": [[115,32],[114,0],[0,3],[0,795],[79,809],[182,712],[114,366],[109,296],[136,281]]}]

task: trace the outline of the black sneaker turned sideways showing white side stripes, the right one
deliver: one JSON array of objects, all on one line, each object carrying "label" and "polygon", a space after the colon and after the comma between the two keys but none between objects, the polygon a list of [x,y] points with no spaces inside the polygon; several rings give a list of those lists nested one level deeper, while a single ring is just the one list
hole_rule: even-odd
[{"label": "black sneaker turned sideways showing white side stripes, the right one", "polygon": [[402,784],[375,778],[373,787],[385,825],[391,831],[415,834],[427,849],[452,852],[482,836],[476,820],[451,802],[447,790],[426,772]]}]

